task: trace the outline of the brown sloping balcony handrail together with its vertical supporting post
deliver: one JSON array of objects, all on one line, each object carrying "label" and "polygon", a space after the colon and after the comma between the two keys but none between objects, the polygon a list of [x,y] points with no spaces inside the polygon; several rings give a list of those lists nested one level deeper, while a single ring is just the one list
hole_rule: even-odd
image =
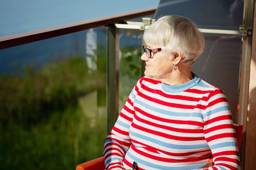
[{"label": "brown sloping balcony handrail together with its vertical supporting post", "polygon": [[[33,43],[43,39],[63,36],[86,29],[92,29],[100,26],[108,27],[108,42],[107,42],[107,108],[108,108],[108,131],[115,124],[118,117],[118,39],[116,39],[115,24],[124,23],[126,20],[153,15],[156,8],[147,8],[144,10],[130,11],[126,13],[110,15],[101,18],[93,18],[72,24],[60,25],[40,29],[36,31],[23,32],[11,36],[0,38],[0,50],[13,46]],[[101,96],[104,97],[104,96]]]}]

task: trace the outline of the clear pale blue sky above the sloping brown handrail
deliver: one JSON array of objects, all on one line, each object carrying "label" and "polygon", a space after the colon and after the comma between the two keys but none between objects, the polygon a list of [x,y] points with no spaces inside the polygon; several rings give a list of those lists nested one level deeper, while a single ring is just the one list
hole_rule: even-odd
[{"label": "clear pale blue sky above the sloping brown handrail", "polygon": [[157,6],[159,0],[1,0],[0,37]]}]

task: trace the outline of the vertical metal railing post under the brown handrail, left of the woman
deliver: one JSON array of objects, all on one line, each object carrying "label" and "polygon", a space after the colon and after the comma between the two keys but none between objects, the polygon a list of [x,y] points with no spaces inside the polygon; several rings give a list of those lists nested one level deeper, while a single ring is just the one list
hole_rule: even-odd
[{"label": "vertical metal railing post under the brown handrail, left of the woman", "polygon": [[108,132],[111,131],[118,117],[118,70],[119,41],[114,24],[108,25],[107,43],[107,107]]}]

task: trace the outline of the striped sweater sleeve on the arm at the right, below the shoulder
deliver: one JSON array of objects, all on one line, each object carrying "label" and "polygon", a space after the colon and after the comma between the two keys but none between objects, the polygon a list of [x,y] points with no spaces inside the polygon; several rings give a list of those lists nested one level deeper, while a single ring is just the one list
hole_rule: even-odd
[{"label": "striped sweater sleeve on the arm at the right, below the shoulder", "polygon": [[213,166],[208,169],[239,169],[236,132],[225,94],[209,94],[204,114],[205,139],[211,148]]}]

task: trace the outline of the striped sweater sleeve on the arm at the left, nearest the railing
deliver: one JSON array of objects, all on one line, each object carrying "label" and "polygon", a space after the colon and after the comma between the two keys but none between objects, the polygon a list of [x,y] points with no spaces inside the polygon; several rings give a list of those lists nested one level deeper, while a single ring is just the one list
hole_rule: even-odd
[{"label": "striped sweater sleeve on the arm at the left, nearest the railing", "polygon": [[132,89],[124,108],[122,108],[116,123],[104,142],[104,161],[106,169],[124,169],[122,162],[125,153],[131,146],[129,127],[134,116],[134,99],[140,88],[142,78]]}]

